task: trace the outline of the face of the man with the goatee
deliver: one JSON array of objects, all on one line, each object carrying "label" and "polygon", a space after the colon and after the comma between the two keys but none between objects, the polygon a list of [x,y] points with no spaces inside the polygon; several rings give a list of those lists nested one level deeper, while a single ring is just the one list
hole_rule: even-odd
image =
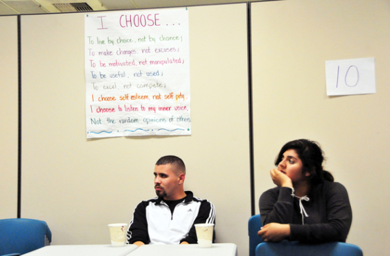
[{"label": "face of the man with the goatee", "polygon": [[155,191],[157,196],[162,196],[166,200],[171,199],[175,192],[179,188],[180,175],[174,172],[174,168],[171,164],[161,164],[155,166]]}]

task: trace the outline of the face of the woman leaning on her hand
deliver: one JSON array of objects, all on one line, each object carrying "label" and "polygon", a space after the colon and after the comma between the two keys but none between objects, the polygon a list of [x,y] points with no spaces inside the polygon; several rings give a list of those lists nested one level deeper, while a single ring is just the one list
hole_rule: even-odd
[{"label": "face of the woman leaning on her hand", "polygon": [[293,184],[304,181],[306,179],[305,177],[310,175],[309,172],[302,175],[302,167],[302,161],[294,149],[285,151],[281,162],[278,164],[278,170],[281,170],[281,172],[287,175]]}]

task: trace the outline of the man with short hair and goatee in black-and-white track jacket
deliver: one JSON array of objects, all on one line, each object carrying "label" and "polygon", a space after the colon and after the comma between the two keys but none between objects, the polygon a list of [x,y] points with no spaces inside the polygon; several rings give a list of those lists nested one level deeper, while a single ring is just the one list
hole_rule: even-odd
[{"label": "man with short hair and goatee in black-and-white track jacket", "polygon": [[135,207],[127,231],[127,244],[196,244],[196,223],[214,223],[214,205],[184,191],[185,165],[173,155],[155,165],[157,198]]}]

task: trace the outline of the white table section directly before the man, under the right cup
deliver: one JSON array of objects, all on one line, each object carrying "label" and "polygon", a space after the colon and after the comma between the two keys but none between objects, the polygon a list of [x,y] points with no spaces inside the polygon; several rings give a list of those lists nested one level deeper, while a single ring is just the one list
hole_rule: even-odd
[{"label": "white table section directly before the man, under the right cup", "polygon": [[146,244],[128,256],[237,256],[235,244],[213,244],[201,248],[198,244]]}]

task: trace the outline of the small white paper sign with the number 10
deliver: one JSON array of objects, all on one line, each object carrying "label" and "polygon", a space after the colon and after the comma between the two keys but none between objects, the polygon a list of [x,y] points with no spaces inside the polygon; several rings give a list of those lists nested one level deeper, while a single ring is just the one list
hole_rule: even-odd
[{"label": "small white paper sign with the number 10", "polygon": [[329,60],[326,66],[326,94],[349,95],[376,92],[373,57]]}]

